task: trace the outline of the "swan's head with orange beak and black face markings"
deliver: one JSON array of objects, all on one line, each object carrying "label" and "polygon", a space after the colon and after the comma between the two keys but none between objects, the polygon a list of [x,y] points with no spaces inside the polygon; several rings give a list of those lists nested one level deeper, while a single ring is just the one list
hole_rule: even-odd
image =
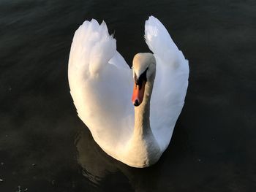
[{"label": "swan's head with orange beak and black face markings", "polygon": [[139,106],[144,97],[145,85],[147,82],[154,82],[156,74],[156,59],[152,53],[138,53],[132,61],[133,80],[135,82],[132,103]]}]

